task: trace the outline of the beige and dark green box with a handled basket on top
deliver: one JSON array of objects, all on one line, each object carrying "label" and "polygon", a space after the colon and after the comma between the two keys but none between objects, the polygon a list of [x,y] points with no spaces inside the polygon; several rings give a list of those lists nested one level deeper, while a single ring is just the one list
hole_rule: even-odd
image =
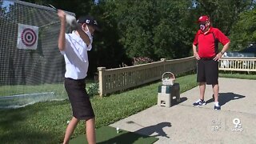
[{"label": "beige and dark green box with a handled basket on top", "polygon": [[[172,78],[164,78],[166,74],[171,74]],[[162,85],[158,86],[158,106],[170,107],[174,104],[173,100],[180,102],[179,83],[174,83],[174,80],[174,74],[170,72],[162,74]]]}]

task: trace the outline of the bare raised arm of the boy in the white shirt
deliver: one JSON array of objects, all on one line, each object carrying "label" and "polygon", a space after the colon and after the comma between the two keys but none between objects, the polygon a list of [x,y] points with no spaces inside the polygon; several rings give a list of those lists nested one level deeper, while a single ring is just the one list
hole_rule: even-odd
[{"label": "bare raised arm of the boy in the white shirt", "polygon": [[65,25],[66,25],[66,14],[63,10],[58,10],[58,18],[61,21],[61,29],[59,31],[59,36],[58,36],[58,50],[63,51],[65,50]]}]

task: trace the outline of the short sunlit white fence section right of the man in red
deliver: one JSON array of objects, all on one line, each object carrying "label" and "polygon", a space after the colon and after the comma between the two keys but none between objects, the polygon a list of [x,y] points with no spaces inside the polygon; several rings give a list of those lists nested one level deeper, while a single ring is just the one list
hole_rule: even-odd
[{"label": "short sunlit white fence section right of the man in red", "polygon": [[222,57],[218,70],[256,71],[256,58]]}]

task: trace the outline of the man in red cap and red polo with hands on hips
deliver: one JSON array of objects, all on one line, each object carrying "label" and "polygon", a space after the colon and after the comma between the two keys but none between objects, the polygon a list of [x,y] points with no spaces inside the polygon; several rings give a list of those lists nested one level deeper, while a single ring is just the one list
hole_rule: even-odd
[{"label": "man in red cap and red polo with hands on hips", "polygon": [[[210,18],[206,15],[198,19],[200,30],[195,35],[193,42],[194,57],[198,60],[198,75],[200,99],[193,106],[206,105],[204,101],[206,84],[212,85],[214,91],[214,110],[221,110],[218,104],[218,60],[230,46],[230,39],[222,31],[210,24]],[[218,42],[223,48],[218,52]],[[198,46],[198,50],[197,50]]]}]

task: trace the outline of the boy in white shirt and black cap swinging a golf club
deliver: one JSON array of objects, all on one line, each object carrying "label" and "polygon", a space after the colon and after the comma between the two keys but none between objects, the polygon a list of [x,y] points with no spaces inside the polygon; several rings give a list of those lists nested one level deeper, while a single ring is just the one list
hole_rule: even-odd
[{"label": "boy in white shirt and black cap swinging a golf club", "polygon": [[72,106],[73,118],[66,128],[64,144],[68,143],[70,136],[80,120],[86,120],[86,138],[90,144],[96,143],[95,115],[86,93],[85,78],[89,66],[87,50],[91,49],[92,34],[98,30],[98,24],[90,16],[78,18],[78,30],[72,34],[65,34],[66,13],[58,10],[61,29],[58,38],[58,49],[66,62],[65,89]]}]

